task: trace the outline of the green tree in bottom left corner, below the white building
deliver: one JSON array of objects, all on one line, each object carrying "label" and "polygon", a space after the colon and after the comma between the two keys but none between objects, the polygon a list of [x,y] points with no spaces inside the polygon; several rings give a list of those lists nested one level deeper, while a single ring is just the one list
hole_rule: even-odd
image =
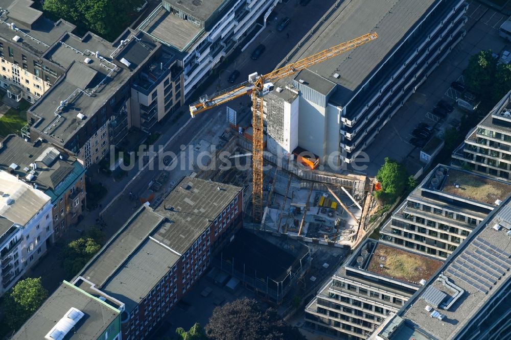
[{"label": "green tree in bottom left corner, below the white building", "polygon": [[17,329],[48,298],[48,291],[41,284],[41,278],[20,280],[5,295],[4,314],[7,325]]}]

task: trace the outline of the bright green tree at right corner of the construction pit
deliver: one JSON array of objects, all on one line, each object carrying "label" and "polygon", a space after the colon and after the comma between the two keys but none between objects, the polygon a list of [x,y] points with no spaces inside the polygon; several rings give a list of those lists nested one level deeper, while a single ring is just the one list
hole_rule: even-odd
[{"label": "bright green tree at right corner of the construction pit", "polygon": [[383,204],[393,203],[403,193],[408,183],[403,165],[389,157],[385,157],[385,163],[378,170],[376,179],[381,183],[382,190],[375,191],[375,197]]}]

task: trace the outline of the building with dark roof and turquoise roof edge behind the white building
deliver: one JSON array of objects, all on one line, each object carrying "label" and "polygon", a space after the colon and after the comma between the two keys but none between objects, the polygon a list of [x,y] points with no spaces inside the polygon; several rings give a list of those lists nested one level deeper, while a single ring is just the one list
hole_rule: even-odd
[{"label": "building with dark roof and turquoise roof edge behind the white building", "polygon": [[9,135],[0,145],[0,169],[51,198],[51,241],[57,240],[85,209],[85,168],[76,157],[40,140],[31,143]]}]

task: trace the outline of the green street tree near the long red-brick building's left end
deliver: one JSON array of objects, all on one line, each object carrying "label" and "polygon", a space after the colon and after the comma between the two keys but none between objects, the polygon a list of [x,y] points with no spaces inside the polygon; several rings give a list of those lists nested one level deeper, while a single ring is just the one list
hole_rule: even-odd
[{"label": "green street tree near the long red-brick building's left end", "polygon": [[90,237],[80,237],[65,245],[60,253],[62,267],[68,276],[75,276],[101,246]]}]

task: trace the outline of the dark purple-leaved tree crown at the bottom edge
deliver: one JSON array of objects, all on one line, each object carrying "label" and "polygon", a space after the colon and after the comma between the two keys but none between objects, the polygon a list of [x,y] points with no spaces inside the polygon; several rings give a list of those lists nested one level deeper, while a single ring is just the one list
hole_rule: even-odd
[{"label": "dark purple-leaved tree crown at the bottom edge", "polygon": [[288,326],[274,309],[263,309],[257,301],[247,298],[216,307],[205,330],[214,340],[305,340],[298,329]]}]

